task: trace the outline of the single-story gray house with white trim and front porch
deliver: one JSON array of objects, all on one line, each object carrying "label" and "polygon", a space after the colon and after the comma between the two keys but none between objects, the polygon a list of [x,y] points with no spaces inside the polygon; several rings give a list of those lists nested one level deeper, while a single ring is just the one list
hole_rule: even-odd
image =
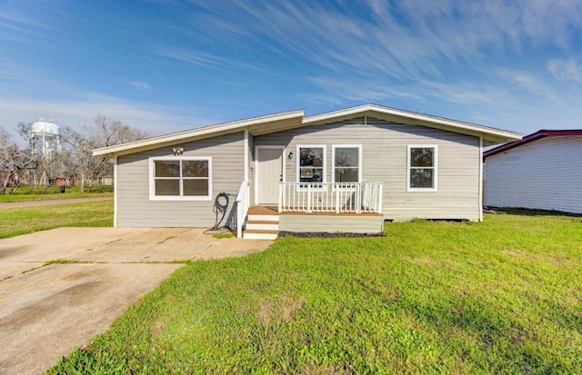
[{"label": "single-story gray house with white trim and front porch", "polygon": [[481,221],[483,147],[521,134],[376,104],[221,123],[94,150],[115,161],[115,226],[245,238]]}]

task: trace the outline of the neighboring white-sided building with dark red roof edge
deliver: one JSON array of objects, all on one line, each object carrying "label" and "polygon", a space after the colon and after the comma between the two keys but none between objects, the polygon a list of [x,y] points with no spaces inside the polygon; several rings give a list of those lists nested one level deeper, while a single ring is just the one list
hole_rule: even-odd
[{"label": "neighboring white-sided building with dark red roof edge", "polygon": [[483,153],[485,205],[582,213],[582,130],[540,130]]}]

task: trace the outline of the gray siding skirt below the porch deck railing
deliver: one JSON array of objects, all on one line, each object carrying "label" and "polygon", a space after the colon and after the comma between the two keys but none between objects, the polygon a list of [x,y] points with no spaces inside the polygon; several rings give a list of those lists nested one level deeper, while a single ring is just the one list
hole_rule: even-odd
[{"label": "gray siding skirt below the porch deck railing", "polygon": [[378,233],[384,219],[374,215],[279,215],[279,230],[285,232]]}]

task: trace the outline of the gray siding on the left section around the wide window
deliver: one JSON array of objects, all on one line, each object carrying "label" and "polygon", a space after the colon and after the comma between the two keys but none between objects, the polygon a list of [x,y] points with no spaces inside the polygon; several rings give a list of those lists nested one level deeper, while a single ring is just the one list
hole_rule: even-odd
[{"label": "gray siding on the left section around the wide window", "polygon": [[245,137],[243,132],[216,138],[180,143],[183,156],[212,158],[212,200],[150,201],[149,158],[172,156],[172,147],[119,156],[117,159],[117,226],[120,227],[212,227],[214,197],[219,192],[232,194],[226,213],[233,225],[236,192],[245,179]]}]

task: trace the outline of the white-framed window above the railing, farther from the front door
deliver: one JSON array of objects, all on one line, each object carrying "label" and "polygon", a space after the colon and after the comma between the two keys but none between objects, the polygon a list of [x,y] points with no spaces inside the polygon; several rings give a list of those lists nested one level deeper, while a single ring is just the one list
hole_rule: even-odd
[{"label": "white-framed window above the railing, farther from the front door", "polygon": [[362,182],[362,146],[333,145],[332,146],[333,173],[332,183],[361,183]]}]

